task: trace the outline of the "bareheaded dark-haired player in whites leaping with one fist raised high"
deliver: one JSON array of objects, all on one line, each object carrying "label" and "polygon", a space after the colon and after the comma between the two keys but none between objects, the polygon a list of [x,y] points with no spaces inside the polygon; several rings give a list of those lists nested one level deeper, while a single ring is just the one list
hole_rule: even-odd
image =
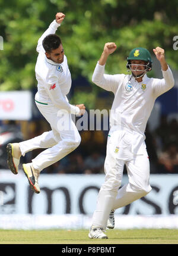
[{"label": "bareheaded dark-haired player in whites leaping with one fist raised high", "polygon": [[[36,193],[40,193],[38,184],[40,171],[74,151],[81,142],[80,134],[72,121],[71,114],[84,114],[85,106],[84,104],[74,106],[68,102],[66,95],[71,88],[71,73],[61,39],[55,35],[64,18],[65,14],[57,13],[56,19],[43,33],[37,44],[39,55],[35,72],[38,90],[35,95],[35,102],[52,130],[28,141],[7,145],[8,166],[14,174],[18,173],[21,155],[24,156],[33,149],[45,148],[43,152],[31,160],[32,163],[23,164],[23,171],[31,189]],[[64,118],[62,113],[69,120],[68,129],[59,129],[60,120]]]}]

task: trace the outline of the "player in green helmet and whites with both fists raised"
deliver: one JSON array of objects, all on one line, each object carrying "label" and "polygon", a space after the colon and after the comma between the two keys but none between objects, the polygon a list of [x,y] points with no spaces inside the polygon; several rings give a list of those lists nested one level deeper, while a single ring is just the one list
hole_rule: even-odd
[{"label": "player in green helmet and whites with both fists raised", "polygon": [[[145,145],[145,127],[155,99],[174,86],[173,74],[166,63],[164,49],[153,49],[163,73],[163,79],[147,77],[152,68],[150,52],[134,48],[127,58],[131,74],[104,74],[107,58],[115,52],[113,42],[104,45],[92,80],[114,93],[110,111],[110,131],[107,139],[105,180],[98,193],[89,238],[107,238],[106,227],[115,226],[114,211],[151,191],[150,163]],[[120,188],[123,167],[128,171],[128,184]],[[119,190],[118,190],[119,189]]]}]

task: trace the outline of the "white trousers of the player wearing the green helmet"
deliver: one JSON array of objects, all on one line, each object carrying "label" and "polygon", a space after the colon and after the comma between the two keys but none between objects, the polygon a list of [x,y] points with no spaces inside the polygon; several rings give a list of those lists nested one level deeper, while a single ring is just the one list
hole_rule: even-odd
[{"label": "white trousers of the player wearing the green helmet", "polygon": [[[105,230],[111,210],[131,204],[151,191],[150,163],[145,142],[141,145],[142,154],[133,155],[131,154],[131,136],[133,135],[125,131],[118,131],[111,134],[107,141],[104,162],[106,177],[98,193],[97,207],[92,219],[94,227],[101,227]],[[120,188],[125,165],[129,183]]]}]

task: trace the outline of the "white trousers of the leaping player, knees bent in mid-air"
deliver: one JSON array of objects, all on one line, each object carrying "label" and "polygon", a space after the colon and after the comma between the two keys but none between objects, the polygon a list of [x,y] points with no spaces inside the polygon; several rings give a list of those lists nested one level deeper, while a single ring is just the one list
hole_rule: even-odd
[{"label": "white trousers of the leaping player, knees bent in mid-air", "polygon": [[28,151],[37,148],[47,148],[32,161],[33,167],[42,171],[63,157],[74,151],[80,145],[81,137],[72,121],[71,114],[62,115],[54,105],[36,103],[40,113],[49,122],[52,130],[24,142],[20,142],[21,153],[24,156]]}]

